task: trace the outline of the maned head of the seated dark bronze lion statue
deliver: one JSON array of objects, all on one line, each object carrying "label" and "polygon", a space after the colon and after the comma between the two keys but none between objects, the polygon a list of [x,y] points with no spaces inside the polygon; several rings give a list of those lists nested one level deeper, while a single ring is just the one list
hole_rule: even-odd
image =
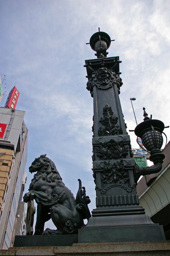
[{"label": "maned head of the seated dark bronze lion statue", "polygon": [[40,155],[40,157],[35,158],[29,167],[29,171],[31,173],[37,172],[34,175],[34,179],[39,180],[40,176],[42,176],[43,180],[47,180],[48,182],[55,181],[55,179],[60,179],[60,174],[56,169],[56,166],[52,160],[50,160],[45,155]]}]

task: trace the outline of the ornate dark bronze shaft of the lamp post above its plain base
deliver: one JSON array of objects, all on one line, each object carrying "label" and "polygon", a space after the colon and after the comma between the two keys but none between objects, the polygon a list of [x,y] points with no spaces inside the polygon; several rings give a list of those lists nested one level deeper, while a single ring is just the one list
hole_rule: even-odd
[{"label": "ornate dark bronze shaft of the lamp post above its plain base", "polygon": [[[99,35],[103,42],[106,37],[108,40],[106,33],[98,32],[90,38],[90,45],[93,46]],[[105,45],[107,41],[103,43]],[[106,58],[104,53],[101,55],[101,49],[97,56],[98,59],[85,60],[87,89],[94,106],[92,158],[97,208],[92,211],[92,216],[131,214],[134,211],[141,214],[144,209],[139,207],[137,181],[133,175],[135,161],[119,99],[123,84],[119,76],[121,61],[118,56]]]}]

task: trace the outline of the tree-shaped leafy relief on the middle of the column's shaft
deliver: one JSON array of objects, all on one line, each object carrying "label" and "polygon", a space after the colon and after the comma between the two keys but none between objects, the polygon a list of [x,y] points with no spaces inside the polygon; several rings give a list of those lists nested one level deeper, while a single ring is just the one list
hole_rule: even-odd
[{"label": "tree-shaped leafy relief on the middle of the column's shaft", "polygon": [[117,116],[113,114],[112,108],[106,103],[105,107],[103,108],[103,116],[101,116],[99,121],[105,127],[99,128],[98,136],[122,134],[122,128],[117,124],[117,121]]}]

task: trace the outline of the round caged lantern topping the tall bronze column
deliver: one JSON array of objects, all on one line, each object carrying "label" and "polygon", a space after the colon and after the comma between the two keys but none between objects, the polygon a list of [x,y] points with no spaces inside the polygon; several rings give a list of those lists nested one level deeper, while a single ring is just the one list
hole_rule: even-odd
[{"label": "round caged lantern topping the tall bronze column", "polygon": [[110,36],[105,33],[100,31],[99,27],[99,32],[96,32],[90,37],[90,42],[86,44],[90,44],[91,48],[93,51],[97,52],[95,53],[95,56],[97,58],[106,58],[108,52],[106,50],[110,47],[111,40]]}]

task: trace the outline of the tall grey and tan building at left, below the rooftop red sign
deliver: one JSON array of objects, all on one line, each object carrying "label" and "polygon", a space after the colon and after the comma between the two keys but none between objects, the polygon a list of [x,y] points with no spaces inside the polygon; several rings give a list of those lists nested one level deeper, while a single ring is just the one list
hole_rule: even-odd
[{"label": "tall grey and tan building at left, below the rooftop red sign", "polygon": [[[13,246],[15,235],[25,235],[28,130],[25,111],[0,108],[0,249]],[[3,126],[4,125],[4,126]],[[6,126],[5,126],[6,125]]]}]

